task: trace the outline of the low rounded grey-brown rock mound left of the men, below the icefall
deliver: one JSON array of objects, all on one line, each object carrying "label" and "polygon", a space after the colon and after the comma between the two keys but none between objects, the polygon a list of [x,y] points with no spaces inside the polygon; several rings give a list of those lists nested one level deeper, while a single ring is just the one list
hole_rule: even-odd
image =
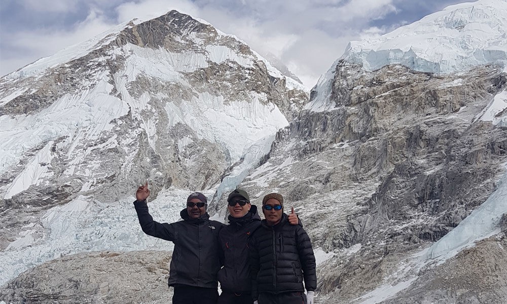
[{"label": "low rounded grey-brown rock mound left of the men, below the icefall", "polygon": [[170,252],[89,252],[30,269],[0,288],[0,301],[26,304],[167,303]]}]

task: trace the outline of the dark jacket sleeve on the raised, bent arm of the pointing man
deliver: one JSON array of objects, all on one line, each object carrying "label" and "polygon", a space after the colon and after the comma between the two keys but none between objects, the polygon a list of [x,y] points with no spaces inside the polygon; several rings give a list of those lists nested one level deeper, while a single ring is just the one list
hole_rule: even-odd
[{"label": "dark jacket sleeve on the raised, bent arm of the pointing man", "polygon": [[134,208],[137,212],[137,218],[141,229],[149,236],[164,239],[166,241],[174,240],[174,224],[159,223],[153,220],[148,212],[148,204],[146,201],[135,201]]}]

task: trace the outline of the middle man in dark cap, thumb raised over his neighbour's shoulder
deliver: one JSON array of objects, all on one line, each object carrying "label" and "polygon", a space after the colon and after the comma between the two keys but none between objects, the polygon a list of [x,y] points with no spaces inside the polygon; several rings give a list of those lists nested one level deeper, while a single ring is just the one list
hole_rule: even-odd
[{"label": "middle man in dark cap, thumb raised over his neighbour's shoulder", "polygon": [[[251,279],[248,238],[261,225],[257,206],[250,204],[248,194],[235,189],[227,199],[229,225],[219,233],[219,242],[224,254],[224,267],[219,271],[222,289],[218,304],[251,304]],[[295,213],[288,217],[289,222],[298,224]]]}]

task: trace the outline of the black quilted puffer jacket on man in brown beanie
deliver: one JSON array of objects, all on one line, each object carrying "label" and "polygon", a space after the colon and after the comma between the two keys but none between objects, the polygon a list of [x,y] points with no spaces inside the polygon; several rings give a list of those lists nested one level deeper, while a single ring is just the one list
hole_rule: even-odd
[{"label": "black quilted puffer jacket on man in brown beanie", "polygon": [[285,213],[274,226],[262,220],[249,246],[253,299],[262,292],[278,294],[317,288],[310,238],[301,225],[291,225]]}]

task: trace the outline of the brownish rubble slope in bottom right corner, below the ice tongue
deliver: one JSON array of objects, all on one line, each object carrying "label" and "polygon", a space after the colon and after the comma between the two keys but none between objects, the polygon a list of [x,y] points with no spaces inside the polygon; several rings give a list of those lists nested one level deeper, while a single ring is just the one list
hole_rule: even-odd
[{"label": "brownish rubble slope in bottom right corner, below the ice tongue", "polygon": [[382,303],[491,303],[507,299],[507,240],[498,235],[422,271],[411,287]]}]

